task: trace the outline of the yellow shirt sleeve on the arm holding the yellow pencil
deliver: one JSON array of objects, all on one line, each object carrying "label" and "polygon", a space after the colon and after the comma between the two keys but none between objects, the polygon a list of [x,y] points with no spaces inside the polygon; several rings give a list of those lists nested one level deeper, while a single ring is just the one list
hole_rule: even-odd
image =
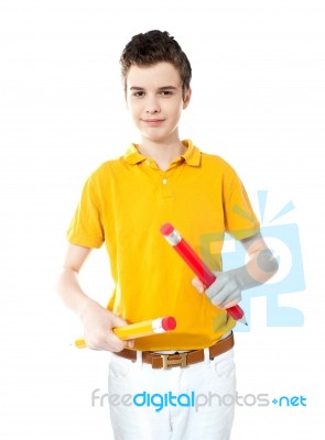
[{"label": "yellow shirt sleeve on the arm holding the yellow pencil", "polygon": [[99,186],[94,175],[86,182],[76,212],[67,230],[72,244],[98,249],[105,241],[101,223]]}]

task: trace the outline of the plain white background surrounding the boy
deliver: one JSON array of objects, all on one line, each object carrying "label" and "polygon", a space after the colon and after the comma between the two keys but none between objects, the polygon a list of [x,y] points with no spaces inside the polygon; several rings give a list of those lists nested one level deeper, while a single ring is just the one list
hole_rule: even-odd
[{"label": "plain white background surrounding the boy", "polygon": [[[324,438],[324,22],[322,0],[0,2],[1,439],[112,438],[108,408],[90,405],[107,353],[71,345],[82,329],[53,285],[85,179],[138,140],[118,59],[151,29],[192,63],[182,138],[230,162],[257,212],[259,189],[269,219],[292,200],[280,223],[300,228],[306,289],[279,300],[304,327],[267,327],[256,298],[236,354],[240,394],[304,395],[307,407],[238,408],[232,439]],[[96,251],[83,274],[102,304],[107,267]]]}]

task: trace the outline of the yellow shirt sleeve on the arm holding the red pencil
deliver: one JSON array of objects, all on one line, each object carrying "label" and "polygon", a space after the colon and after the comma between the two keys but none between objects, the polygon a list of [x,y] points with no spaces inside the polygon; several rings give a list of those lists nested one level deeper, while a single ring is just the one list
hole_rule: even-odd
[{"label": "yellow shirt sleeve on the arm holding the red pencil", "polygon": [[229,166],[224,178],[224,215],[226,231],[236,240],[247,239],[259,232],[257,219],[247,191],[234,168]]}]

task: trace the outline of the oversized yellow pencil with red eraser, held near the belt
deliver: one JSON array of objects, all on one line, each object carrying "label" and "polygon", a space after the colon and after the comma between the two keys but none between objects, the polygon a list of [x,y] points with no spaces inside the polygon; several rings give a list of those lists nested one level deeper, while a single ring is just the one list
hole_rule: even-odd
[{"label": "oversized yellow pencil with red eraser, held near the belt", "polygon": [[[112,329],[115,334],[122,339],[123,341],[128,341],[130,339],[148,337],[154,333],[165,333],[166,331],[174,330],[176,328],[176,320],[173,317],[164,317],[150,319],[148,321],[131,323],[124,327],[116,327]],[[85,349],[86,341],[83,338],[75,340],[75,345],[78,349]]]}]

